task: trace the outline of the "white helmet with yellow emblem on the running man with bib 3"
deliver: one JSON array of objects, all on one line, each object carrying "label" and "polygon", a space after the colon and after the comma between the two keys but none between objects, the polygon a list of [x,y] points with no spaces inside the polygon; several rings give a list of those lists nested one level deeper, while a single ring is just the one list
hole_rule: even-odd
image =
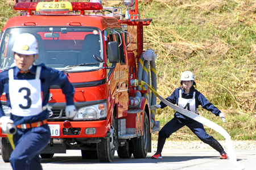
[{"label": "white helmet with yellow emblem on the running man with bib 3", "polygon": [[38,54],[38,41],[34,35],[22,33],[14,41],[13,52],[24,55]]}]

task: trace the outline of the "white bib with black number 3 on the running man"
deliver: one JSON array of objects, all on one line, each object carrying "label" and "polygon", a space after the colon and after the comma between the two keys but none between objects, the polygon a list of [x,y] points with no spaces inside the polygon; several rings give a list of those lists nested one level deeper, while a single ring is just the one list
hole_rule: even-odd
[{"label": "white bib with black number 3 on the running man", "polygon": [[11,113],[16,116],[35,116],[43,111],[40,83],[41,67],[36,68],[36,78],[14,80],[13,69],[9,70],[9,93]]}]

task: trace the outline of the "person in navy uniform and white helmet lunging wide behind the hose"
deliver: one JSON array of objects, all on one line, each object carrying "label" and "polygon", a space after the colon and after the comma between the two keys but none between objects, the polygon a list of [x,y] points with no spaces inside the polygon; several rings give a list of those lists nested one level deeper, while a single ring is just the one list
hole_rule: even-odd
[{"label": "person in navy uniform and white helmet lunging wide behind the hose", "polygon": [[[179,107],[188,109],[191,112],[197,113],[199,105],[201,105],[207,111],[212,112],[216,116],[220,116],[222,121],[226,122],[224,113],[222,113],[218,108],[214,107],[209,101],[195,89],[196,86],[193,73],[191,71],[184,71],[181,74],[180,84],[182,87],[176,88],[175,91],[166,100],[170,101],[172,104],[177,104]],[[162,101],[159,105],[152,105],[150,109],[159,109],[167,107]],[[193,131],[194,134],[199,137],[201,141],[207,143],[213,147],[216,151],[220,152],[220,159],[226,159],[228,155],[224,151],[224,148],[214,139],[212,136],[208,135],[204,129],[203,124],[176,112],[174,118],[169,121],[158,134],[158,148],[156,153],[151,157],[152,159],[162,159],[161,152],[163,150],[166,138],[170,137],[172,133],[179,130],[183,126],[188,126],[189,129]]]}]

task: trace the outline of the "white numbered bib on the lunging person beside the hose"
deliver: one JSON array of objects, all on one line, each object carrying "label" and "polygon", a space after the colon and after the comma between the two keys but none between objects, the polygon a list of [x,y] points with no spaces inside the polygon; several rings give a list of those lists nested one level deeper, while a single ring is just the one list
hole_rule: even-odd
[{"label": "white numbered bib on the lunging person beside the hose", "polygon": [[196,92],[193,93],[193,99],[184,99],[181,97],[181,90],[179,90],[179,103],[178,106],[187,109],[188,111],[196,113]]}]

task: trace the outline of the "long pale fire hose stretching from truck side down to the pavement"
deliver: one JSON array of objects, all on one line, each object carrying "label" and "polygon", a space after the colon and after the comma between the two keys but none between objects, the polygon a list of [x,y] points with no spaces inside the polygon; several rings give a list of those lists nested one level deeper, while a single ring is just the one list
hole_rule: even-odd
[{"label": "long pale fire hose stretching from truck side down to the pavement", "polygon": [[225,129],[223,129],[221,126],[215,124],[214,122],[208,120],[207,118],[204,118],[204,117],[200,116],[199,114],[193,113],[191,111],[188,111],[186,109],[183,109],[181,107],[178,107],[177,105],[174,105],[174,104],[170,103],[169,101],[164,99],[162,96],[160,96],[147,83],[145,83],[143,81],[139,81],[139,84],[146,85],[148,88],[150,88],[150,90],[155,94],[155,96],[158,97],[158,99],[160,99],[161,101],[163,101],[164,104],[168,105],[168,107],[174,109],[175,111],[177,111],[181,114],[184,114],[185,116],[188,116],[188,117],[192,118],[193,120],[195,120],[197,122],[200,122],[201,124],[203,124],[205,126],[208,126],[209,128],[217,131],[218,133],[220,133],[226,139],[226,147],[228,148],[230,163],[236,165],[236,167],[237,167],[236,170],[245,169],[244,165],[237,162],[236,153],[234,152],[234,147],[232,145],[230,135],[228,134],[228,132]]}]

